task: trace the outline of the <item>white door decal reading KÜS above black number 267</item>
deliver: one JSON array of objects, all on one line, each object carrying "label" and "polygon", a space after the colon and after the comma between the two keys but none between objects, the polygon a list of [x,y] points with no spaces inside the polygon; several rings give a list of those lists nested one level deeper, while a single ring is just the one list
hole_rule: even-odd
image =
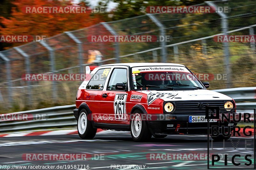
[{"label": "white door decal reading K\u00dcS above black number 267", "polygon": [[115,95],[114,112],[115,112],[115,119],[117,121],[127,121],[126,99],[127,99],[127,94],[116,93],[116,95]]}]

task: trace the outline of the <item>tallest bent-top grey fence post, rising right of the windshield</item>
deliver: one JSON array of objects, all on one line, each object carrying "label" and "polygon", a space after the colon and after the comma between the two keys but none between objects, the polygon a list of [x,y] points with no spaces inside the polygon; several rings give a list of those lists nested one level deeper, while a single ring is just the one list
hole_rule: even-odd
[{"label": "tallest bent-top grey fence post, rising right of the windshield", "polygon": [[[209,6],[213,6],[215,9],[218,9],[218,6],[216,4],[214,4],[211,1],[206,1],[206,4],[208,4]],[[224,34],[224,36],[228,35],[228,16],[223,13],[223,12],[217,12],[218,15],[220,15],[221,17],[221,27],[222,27],[222,33]],[[223,47],[224,47],[224,65],[226,66],[226,73],[227,73],[227,88],[231,88],[232,84],[231,84],[231,70],[230,70],[230,53],[229,53],[229,46],[228,46],[228,42],[223,42]]]}]

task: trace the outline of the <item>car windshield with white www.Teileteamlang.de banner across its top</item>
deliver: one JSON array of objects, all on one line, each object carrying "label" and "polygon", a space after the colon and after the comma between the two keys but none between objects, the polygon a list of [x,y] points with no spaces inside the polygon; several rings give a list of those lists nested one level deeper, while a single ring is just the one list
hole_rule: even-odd
[{"label": "car windshield with white www.Teileteamlang.de banner across its top", "polygon": [[198,79],[183,66],[145,66],[132,68],[134,90],[204,89]]}]

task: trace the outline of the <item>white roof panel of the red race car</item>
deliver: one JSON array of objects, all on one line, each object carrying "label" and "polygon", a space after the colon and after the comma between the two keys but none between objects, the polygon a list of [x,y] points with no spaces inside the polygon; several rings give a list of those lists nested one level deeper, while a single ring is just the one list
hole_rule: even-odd
[{"label": "white roof panel of the red race car", "polygon": [[176,63],[115,63],[115,64],[105,64],[101,66],[112,66],[112,65],[122,65],[122,66],[130,66],[130,67],[138,67],[138,66],[183,66],[182,64]]}]

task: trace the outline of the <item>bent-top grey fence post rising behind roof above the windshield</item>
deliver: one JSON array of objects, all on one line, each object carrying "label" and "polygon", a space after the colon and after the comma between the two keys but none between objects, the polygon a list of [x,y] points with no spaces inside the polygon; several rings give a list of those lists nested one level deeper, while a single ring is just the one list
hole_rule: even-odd
[{"label": "bent-top grey fence post rising behind roof above the windshield", "polygon": [[[166,60],[166,42],[165,42],[165,27],[164,25],[154,16],[154,14],[147,14],[148,17],[156,24],[156,26],[158,26],[159,28],[159,32],[160,32],[160,36],[164,38],[164,41],[161,41],[161,52],[162,52],[162,62],[163,63],[166,63],[167,60]],[[160,40],[160,38],[159,38]]]}]

